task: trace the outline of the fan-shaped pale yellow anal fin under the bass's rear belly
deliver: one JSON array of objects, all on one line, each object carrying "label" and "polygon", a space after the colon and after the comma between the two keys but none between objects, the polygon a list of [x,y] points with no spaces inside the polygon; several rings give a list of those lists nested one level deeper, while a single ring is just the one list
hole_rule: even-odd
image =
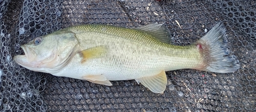
[{"label": "fan-shaped pale yellow anal fin under the bass's rear belly", "polygon": [[167,78],[164,70],[157,75],[142,77],[135,80],[150,89],[152,92],[161,94],[163,94],[167,84]]}]

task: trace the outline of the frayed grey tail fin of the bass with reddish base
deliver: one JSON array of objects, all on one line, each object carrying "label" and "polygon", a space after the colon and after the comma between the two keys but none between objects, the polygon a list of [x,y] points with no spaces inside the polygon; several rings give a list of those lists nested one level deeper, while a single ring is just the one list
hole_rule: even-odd
[{"label": "frayed grey tail fin of the bass with reddish base", "polygon": [[[240,68],[239,61],[235,55],[227,56],[229,50],[227,48],[226,29],[221,22],[212,27],[196,44],[202,54],[205,65],[201,70],[228,73],[237,71]],[[205,48],[201,45],[205,46]]]}]

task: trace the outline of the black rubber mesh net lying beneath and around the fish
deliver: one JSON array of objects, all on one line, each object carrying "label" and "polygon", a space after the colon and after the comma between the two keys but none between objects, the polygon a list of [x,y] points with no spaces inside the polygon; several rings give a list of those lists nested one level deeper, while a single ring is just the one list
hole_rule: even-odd
[{"label": "black rubber mesh net lying beneath and around the fish", "polygon": [[[0,111],[256,111],[256,2],[160,0],[0,1]],[[20,45],[77,24],[163,23],[176,45],[200,39],[218,21],[241,68],[234,73],[166,72],[163,95],[135,80],[102,86],[16,64]],[[180,26],[179,26],[179,25]],[[216,75],[216,76],[215,76]]]}]

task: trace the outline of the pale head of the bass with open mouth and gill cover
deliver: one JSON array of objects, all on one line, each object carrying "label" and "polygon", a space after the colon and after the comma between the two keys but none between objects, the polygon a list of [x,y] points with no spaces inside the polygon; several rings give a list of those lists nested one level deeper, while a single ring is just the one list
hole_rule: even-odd
[{"label": "pale head of the bass with open mouth and gill cover", "polygon": [[71,61],[78,45],[79,41],[73,32],[56,32],[36,37],[22,45],[25,55],[16,55],[13,59],[32,71],[58,72]]}]

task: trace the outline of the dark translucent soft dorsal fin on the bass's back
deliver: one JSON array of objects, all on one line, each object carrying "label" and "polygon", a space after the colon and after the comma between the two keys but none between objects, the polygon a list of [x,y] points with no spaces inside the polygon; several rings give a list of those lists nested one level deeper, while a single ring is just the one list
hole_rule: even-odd
[{"label": "dark translucent soft dorsal fin on the bass's back", "polygon": [[161,42],[170,43],[170,33],[163,24],[153,23],[145,26],[140,26],[135,29],[151,34],[158,38]]}]

